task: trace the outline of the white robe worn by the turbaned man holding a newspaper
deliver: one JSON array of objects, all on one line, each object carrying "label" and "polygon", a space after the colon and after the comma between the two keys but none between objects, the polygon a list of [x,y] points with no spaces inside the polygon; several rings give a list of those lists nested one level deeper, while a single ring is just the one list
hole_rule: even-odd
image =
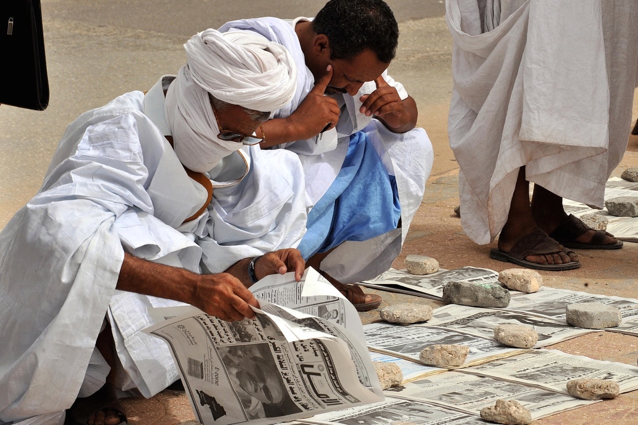
[{"label": "white robe worn by the turbaned man holding a newspaper", "polygon": [[[286,151],[232,154],[211,170],[210,213],[184,223],[207,192],[165,138],[162,81],[71,123],[40,191],[0,233],[0,421],[60,412],[101,387],[108,366],[94,345],[105,315],[123,366],[119,389],[150,397],[177,378],[166,344],[140,330],[153,323],[148,306],[179,303],[115,290],[125,250],[200,272],[299,244],[303,175]],[[213,246],[213,230],[234,245]]]}]

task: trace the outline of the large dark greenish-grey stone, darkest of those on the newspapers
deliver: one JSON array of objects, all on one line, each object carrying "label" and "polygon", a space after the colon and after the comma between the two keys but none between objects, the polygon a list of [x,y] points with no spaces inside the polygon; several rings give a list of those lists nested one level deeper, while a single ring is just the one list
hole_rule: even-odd
[{"label": "large dark greenish-grey stone, darkest of those on the newspapers", "polygon": [[443,301],[472,307],[504,308],[510,292],[496,283],[448,282],[443,287]]}]

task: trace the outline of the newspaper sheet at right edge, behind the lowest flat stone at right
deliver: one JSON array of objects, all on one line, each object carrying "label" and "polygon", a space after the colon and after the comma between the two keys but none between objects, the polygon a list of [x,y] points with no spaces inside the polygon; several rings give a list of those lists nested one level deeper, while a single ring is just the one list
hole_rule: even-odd
[{"label": "newspaper sheet at right edge, behind the lowest flat stone at right", "polygon": [[619,385],[620,392],[638,389],[638,367],[636,366],[595,360],[582,355],[543,348],[466,368],[463,372],[551,389],[565,394],[567,394],[567,381],[580,378],[611,379]]}]

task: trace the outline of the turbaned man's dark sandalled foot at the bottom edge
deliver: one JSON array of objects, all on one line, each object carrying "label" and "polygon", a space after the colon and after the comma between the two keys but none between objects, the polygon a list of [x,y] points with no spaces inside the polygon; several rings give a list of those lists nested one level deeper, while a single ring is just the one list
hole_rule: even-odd
[{"label": "turbaned man's dark sandalled foot at the bottom edge", "polygon": [[66,410],[64,425],[128,424],[124,405],[117,398],[113,384],[104,384],[88,397],[78,398]]}]

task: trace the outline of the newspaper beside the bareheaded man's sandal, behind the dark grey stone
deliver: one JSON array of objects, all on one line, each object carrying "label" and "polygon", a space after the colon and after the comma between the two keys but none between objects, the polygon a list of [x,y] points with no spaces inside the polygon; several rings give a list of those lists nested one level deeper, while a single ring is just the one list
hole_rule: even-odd
[{"label": "newspaper beside the bareheaded man's sandal, behind the dark grey stone", "polygon": [[410,274],[405,270],[390,269],[372,280],[361,282],[360,285],[440,300],[443,297],[443,286],[452,281],[471,282],[477,285],[485,283],[501,285],[498,281],[498,272],[469,266],[441,270],[433,274],[424,275]]}]

